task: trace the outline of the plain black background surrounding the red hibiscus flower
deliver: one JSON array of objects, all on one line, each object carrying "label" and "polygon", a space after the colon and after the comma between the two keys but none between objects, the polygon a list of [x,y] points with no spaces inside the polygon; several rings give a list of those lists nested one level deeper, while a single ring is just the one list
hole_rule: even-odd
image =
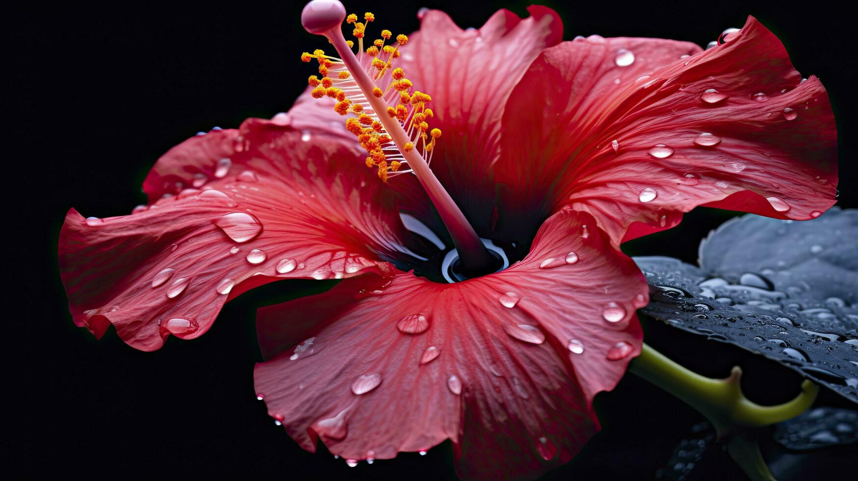
[{"label": "plain black background surrounding the red hibiscus flower", "polygon": [[[855,27],[845,10],[821,2],[801,10],[786,3],[545,3],[563,17],[565,40],[599,33],[705,46],[724,28],[741,27],[746,15],[757,16],[787,46],[796,68],[828,88],[841,137],[839,204],[858,205],[851,187],[858,64]],[[527,4],[421,1],[382,3],[381,9],[349,2],[347,9],[370,10],[377,27],[407,33],[418,26],[421,6],[446,10],[462,27],[479,27],[498,8],[526,15]],[[12,170],[5,201],[3,400],[9,407],[0,441],[8,457],[3,471],[35,476],[61,469],[94,478],[452,478],[449,442],[425,457],[402,454],[351,469],[323,447],[318,454],[298,448],[256,401],[252,369],[261,357],[255,308],[316,289],[318,282],[284,281],[242,295],[207,335],[190,342],[170,338],[154,353],[131,349],[112,331],[95,341],[73,325],[56,254],[69,207],[107,217],[144,203],[142,180],[173,145],[215,125],[236,127],[247,117],[286,111],[309,75],[300,52],[320,45],[300,27],[303,3],[117,5],[5,12],[3,64],[11,84],[4,97],[11,109],[4,110],[13,125],[3,142],[4,165]],[[698,209],[679,228],[625,250],[694,262],[698,241],[733,215]],[[713,356],[704,341],[660,326],[650,330],[658,331],[659,345],[704,374],[724,375],[741,356],[723,350]],[[761,365],[752,383],[761,402],[794,393],[797,381],[766,369]],[[781,392],[774,385],[787,387]],[[700,420],[631,374],[613,393],[600,394],[597,407],[605,430],[549,478],[651,478]],[[802,462],[785,478],[815,478],[802,473],[814,472],[819,459],[825,458]],[[738,476],[721,454],[704,461],[694,478]],[[826,474],[834,468],[828,465]]]}]

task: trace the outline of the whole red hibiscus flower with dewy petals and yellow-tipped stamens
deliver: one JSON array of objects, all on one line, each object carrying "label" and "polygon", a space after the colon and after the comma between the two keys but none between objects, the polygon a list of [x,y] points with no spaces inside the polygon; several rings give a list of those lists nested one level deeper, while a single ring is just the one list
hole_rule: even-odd
[{"label": "whole red hibiscus flower with dewy petals and yellow-tipped stamens", "polygon": [[529,12],[462,30],[427,11],[372,44],[372,14],[349,18],[354,57],[341,4],[310,3],[341,58],[305,54],[321,76],[289,113],[171,149],[129,216],[69,211],[76,324],[156,350],[247,289],[343,278],[258,315],[258,397],[302,447],[353,462],[449,438],[475,478],[570,460],[641,348],[647,286],[619,244],[698,205],[819,216],[837,134],[753,18],[702,52],[561,42],[551,9]]}]

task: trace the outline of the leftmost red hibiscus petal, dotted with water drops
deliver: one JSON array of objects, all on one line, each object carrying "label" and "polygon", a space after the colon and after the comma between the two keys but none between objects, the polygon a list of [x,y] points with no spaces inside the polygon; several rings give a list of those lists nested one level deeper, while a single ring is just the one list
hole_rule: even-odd
[{"label": "leftmost red hibiscus petal, dotted with water drops", "polygon": [[382,259],[401,248],[389,190],[324,131],[251,119],[170,150],[145,186],[156,196],[201,173],[202,190],[130,216],[69,211],[60,268],[79,326],[101,336],[109,321],[128,344],[154,350],[168,334],[206,332],[224,302],[255,285],[385,271]]}]

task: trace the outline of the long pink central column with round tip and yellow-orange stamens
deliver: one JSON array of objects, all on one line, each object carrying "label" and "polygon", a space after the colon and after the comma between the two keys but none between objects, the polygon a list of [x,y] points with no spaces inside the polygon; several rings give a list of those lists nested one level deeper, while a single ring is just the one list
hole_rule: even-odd
[{"label": "long pink central column with round tip and yellow-orange stamens", "polygon": [[[342,36],[341,24],[353,24],[353,35],[358,39],[358,56],[352,49],[353,41]],[[412,172],[426,189],[432,204],[450,232],[462,263],[462,271],[469,277],[492,271],[497,259],[492,256],[477,236],[474,228],[462,214],[444,186],[432,174],[428,160],[432,159],[441,131],[429,129],[432,109],[426,104],[429,94],[412,92],[412,82],[402,68],[394,67],[399,47],[408,42],[406,35],[396,36],[393,45],[385,42],[393,36],[382,30],[381,39],[364,51],[366,25],[375,20],[372,13],[346,16],[339,0],[312,0],[301,12],[301,24],[307,32],[324,35],[333,44],[340,58],[325,55],[321,50],[304,52],[301,59],[310,62],[316,58],[322,78],[311,76],[313,97],[329,96],[337,101],[334,109],[341,115],[352,113],[356,117],[346,120],[348,131],[358,137],[360,145],[369,154],[367,167],[378,169],[378,177],[387,181],[389,175]],[[424,158],[426,157],[426,158]]]}]

